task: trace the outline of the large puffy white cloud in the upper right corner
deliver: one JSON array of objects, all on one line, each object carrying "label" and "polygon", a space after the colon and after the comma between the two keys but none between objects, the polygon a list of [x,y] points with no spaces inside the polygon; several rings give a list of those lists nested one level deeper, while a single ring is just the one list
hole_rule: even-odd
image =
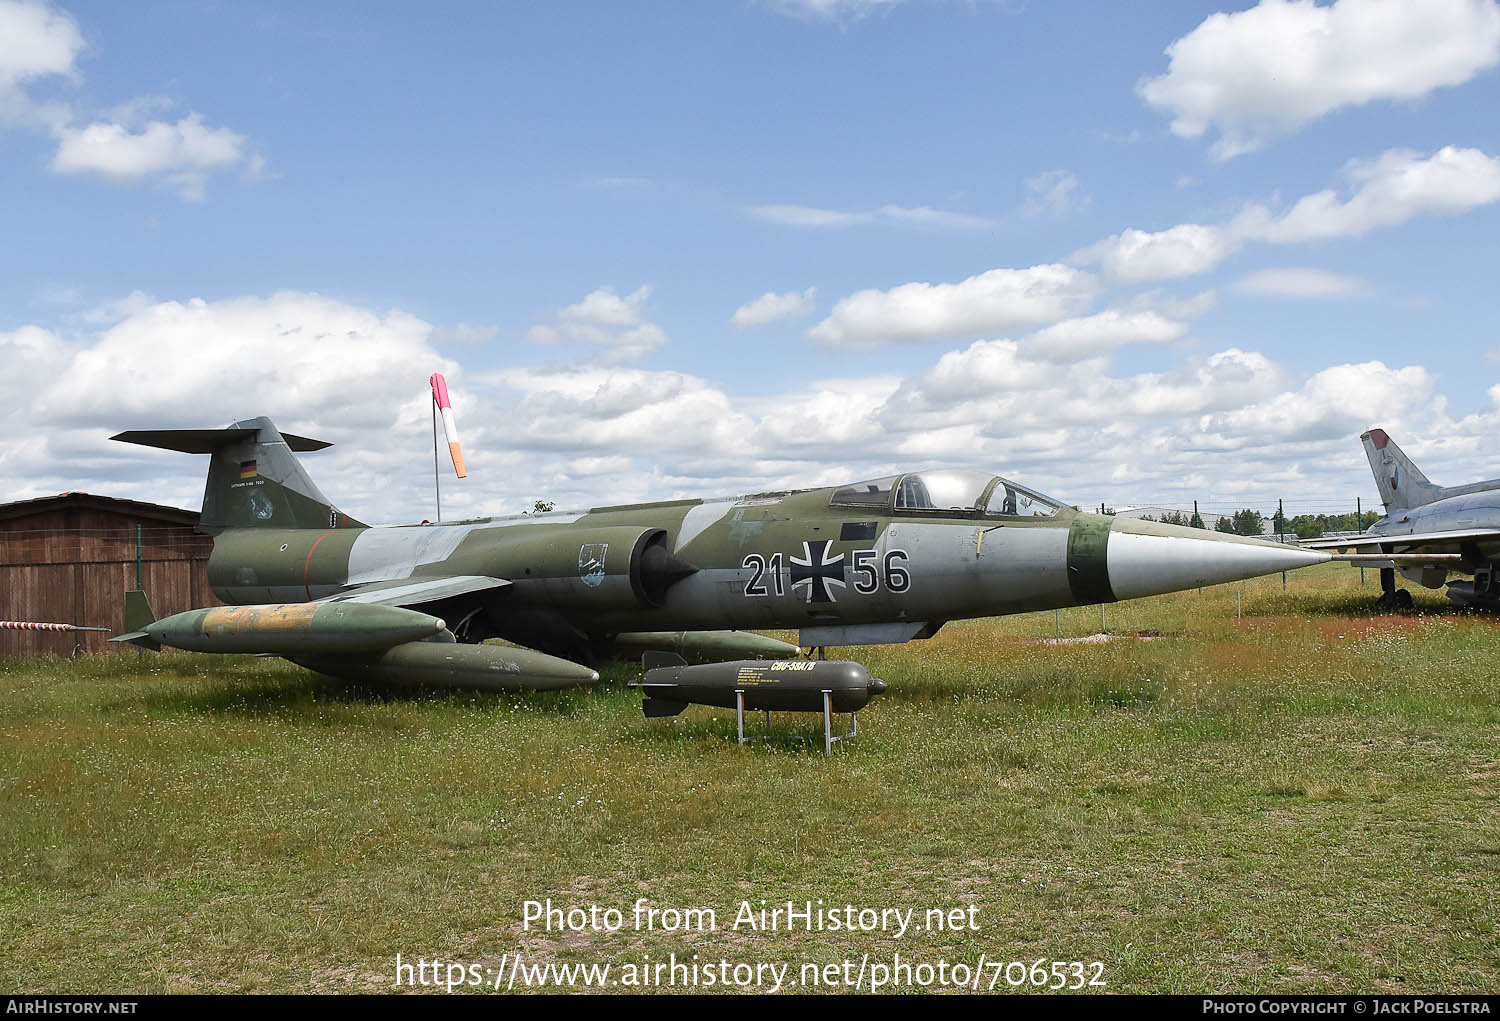
[{"label": "large puffy white cloud in the upper right corner", "polygon": [[1494,0],[1262,0],[1209,15],[1167,46],[1164,75],[1140,96],[1173,133],[1216,127],[1224,160],[1335,109],[1413,100],[1500,63]]}]

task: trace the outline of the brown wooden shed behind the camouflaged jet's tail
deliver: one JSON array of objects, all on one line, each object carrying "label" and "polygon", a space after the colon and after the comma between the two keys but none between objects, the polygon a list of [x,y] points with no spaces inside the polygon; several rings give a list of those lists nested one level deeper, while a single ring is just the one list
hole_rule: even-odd
[{"label": "brown wooden shed behind the camouflaged jet's tail", "polygon": [[[218,606],[207,577],[213,538],[196,525],[198,511],[88,493],[0,504],[0,621],[118,633],[136,570],[158,616]],[[0,657],[120,649],[108,637],[0,631]]]}]

